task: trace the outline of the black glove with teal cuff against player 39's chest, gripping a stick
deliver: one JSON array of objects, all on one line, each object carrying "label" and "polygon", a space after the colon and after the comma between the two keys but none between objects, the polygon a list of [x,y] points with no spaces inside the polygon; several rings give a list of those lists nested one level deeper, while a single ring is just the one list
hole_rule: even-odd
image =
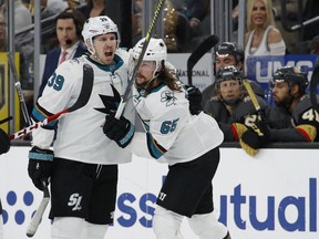
[{"label": "black glove with teal cuff against player 39's chest, gripping a stick", "polygon": [[132,141],[135,126],[124,116],[117,119],[115,113],[111,113],[105,116],[103,132],[110,139],[115,141],[120,147],[124,148]]}]

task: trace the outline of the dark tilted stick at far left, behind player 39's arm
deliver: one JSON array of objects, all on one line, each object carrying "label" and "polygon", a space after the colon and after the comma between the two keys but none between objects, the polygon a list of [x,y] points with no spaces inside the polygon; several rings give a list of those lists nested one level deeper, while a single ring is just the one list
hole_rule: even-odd
[{"label": "dark tilted stick at far left, behind player 39's arm", "polygon": [[31,119],[30,119],[30,116],[28,113],[27,104],[25,104],[23,92],[21,89],[21,83],[20,83],[19,77],[18,77],[18,72],[17,72],[16,64],[13,61],[13,55],[11,52],[8,52],[8,60],[9,60],[8,61],[9,67],[11,69],[11,73],[12,73],[12,76],[14,80],[14,86],[16,86],[17,92],[18,92],[18,96],[19,96],[19,101],[20,101],[20,105],[21,105],[21,111],[22,111],[22,114],[23,114],[23,117],[24,117],[27,125],[30,126]]}]

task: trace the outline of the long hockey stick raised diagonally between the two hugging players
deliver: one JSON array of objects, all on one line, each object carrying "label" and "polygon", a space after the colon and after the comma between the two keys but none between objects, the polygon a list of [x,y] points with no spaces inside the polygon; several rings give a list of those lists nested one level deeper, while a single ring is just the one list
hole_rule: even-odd
[{"label": "long hockey stick raised diagonally between the two hugging players", "polygon": [[158,15],[160,15],[160,12],[162,10],[162,7],[164,4],[165,0],[160,0],[158,3],[157,3],[157,7],[155,9],[155,12],[154,12],[154,17],[153,17],[153,20],[151,22],[151,25],[147,30],[147,33],[146,33],[146,37],[145,37],[145,42],[143,44],[143,48],[142,48],[142,52],[141,54],[138,55],[138,59],[137,59],[137,62],[136,62],[136,65],[133,70],[133,73],[131,75],[131,79],[128,80],[128,84],[127,84],[127,87],[124,92],[124,95],[121,100],[121,103],[119,105],[119,108],[116,111],[116,114],[115,114],[115,118],[120,118],[122,113],[124,112],[124,107],[126,105],[126,102],[128,101],[128,97],[130,97],[130,93],[131,93],[131,89],[133,86],[133,83],[134,83],[134,79],[136,77],[136,74],[137,74],[137,70],[140,69],[141,66],[141,63],[143,61],[143,58],[144,58],[144,54],[146,52],[146,49],[147,49],[147,45],[151,41],[151,37],[152,37],[152,33],[153,33],[153,29],[154,29],[154,25],[156,24],[157,22],[157,19],[158,19]]}]

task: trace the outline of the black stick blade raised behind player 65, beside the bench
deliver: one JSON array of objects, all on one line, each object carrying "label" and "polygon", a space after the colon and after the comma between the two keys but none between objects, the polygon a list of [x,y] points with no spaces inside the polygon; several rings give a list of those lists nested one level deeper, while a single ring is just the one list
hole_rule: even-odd
[{"label": "black stick blade raised behind player 65, beside the bench", "polygon": [[208,52],[213,46],[215,46],[218,42],[219,38],[217,35],[209,35],[189,55],[187,60],[187,80],[189,85],[193,85],[193,67],[203,58],[203,55]]}]

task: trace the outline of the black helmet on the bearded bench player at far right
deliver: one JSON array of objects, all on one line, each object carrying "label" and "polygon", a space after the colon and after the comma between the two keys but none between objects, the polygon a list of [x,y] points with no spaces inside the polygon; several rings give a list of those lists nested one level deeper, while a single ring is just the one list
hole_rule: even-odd
[{"label": "black helmet on the bearded bench player at far right", "polygon": [[305,72],[302,72],[297,66],[284,66],[278,69],[272,76],[272,82],[275,81],[285,81],[288,83],[289,89],[294,84],[299,85],[299,93],[305,94],[306,89],[309,84],[308,77]]}]

